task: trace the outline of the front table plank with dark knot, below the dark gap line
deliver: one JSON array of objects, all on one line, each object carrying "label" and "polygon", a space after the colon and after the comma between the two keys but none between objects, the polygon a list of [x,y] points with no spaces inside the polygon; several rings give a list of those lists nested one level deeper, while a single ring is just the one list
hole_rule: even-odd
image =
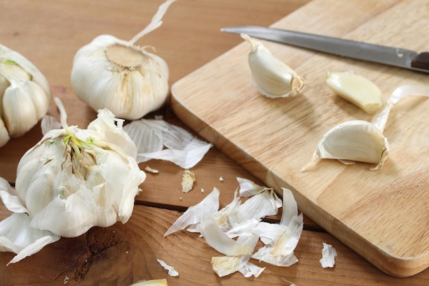
[{"label": "front table plank with dark knot, below the dark gap line", "polygon": [[[0,207],[0,218],[8,215]],[[180,215],[177,211],[136,206],[127,224],[93,228],[85,235],[62,238],[32,257],[5,266],[12,253],[0,254],[1,285],[118,285],[140,280],[167,278],[169,285],[428,285],[429,272],[409,278],[382,274],[358,254],[328,233],[304,230],[291,267],[252,263],[267,267],[258,278],[244,278],[234,273],[219,278],[210,261],[219,252],[195,233],[186,231],[163,237]],[[323,269],[319,263],[322,243],[330,243],[338,252],[334,268]],[[261,244],[258,244],[260,247]],[[156,261],[162,259],[175,267],[178,277],[171,277]],[[69,278],[67,283],[64,279]],[[286,281],[290,281],[287,283]]]}]

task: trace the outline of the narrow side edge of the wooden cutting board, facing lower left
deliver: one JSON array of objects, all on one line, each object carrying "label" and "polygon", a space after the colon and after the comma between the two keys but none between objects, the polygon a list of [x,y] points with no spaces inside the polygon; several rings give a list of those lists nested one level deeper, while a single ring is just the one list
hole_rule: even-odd
[{"label": "narrow side edge of the wooden cutting board, facing lower left", "polygon": [[[197,71],[198,70],[194,72]],[[176,93],[177,86],[182,82],[186,82],[186,80],[191,76],[192,73],[175,82],[171,86],[170,95],[170,104],[173,112],[186,126],[197,132],[197,134],[206,141],[215,145],[223,154],[225,154],[225,156],[231,158],[234,162],[243,167],[243,169],[249,171],[253,176],[267,184],[268,187],[273,187],[279,195],[281,195],[281,187],[291,189],[300,210],[302,209],[302,205],[312,204],[313,207],[306,208],[306,210],[309,211],[304,212],[305,215],[382,272],[391,276],[404,278],[418,274],[429,267],[429,252],[426,253],[426,255],[421,255],[420,257],[409,258],[395,257],[388,252],[380,250],[380,248],[367,241],[367,239],[362,237],[362,235],[355,233],[338,219],[317,207],[314,202],[311,202],[311,200],[306,198],[305,195],[299,193],[299,191],[293,188],[291,184],[273,174],[269,169],[267,169],[267,167],[252,158],[252,156],[249,154],[247,154],[247,156],[243,156],[243,153],[245,153],[243,150],[240,150],[240,148],[229,141],[228,138],[217,132],[215,128],[212,128],[210,123],[205,122],[204,119],[195,115],[196,112],[193,112],[195,110],[189,110],[180,102],[180,98]],[[321,215],[322,213],[323,215]],[[326,219],[322,219],[323,216],[325,216]],[[356,243],[352,243],[353,239],[349,239],[351,235],[359,237],[359,239],[356,239]],[[373,251],[368,251],[369,249],[373,249]],[[371,256],[371,253],[376,255]]]}]

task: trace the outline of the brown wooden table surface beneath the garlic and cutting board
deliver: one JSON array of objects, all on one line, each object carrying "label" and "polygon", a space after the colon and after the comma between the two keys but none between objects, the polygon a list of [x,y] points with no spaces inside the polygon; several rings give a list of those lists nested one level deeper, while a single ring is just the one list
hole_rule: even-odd
[{"label": "brown wooden table surface beneath the garlic and cutting board", "polygon": [[[230,25],[271,25],[305,5],[309,0],[178,0],[164,16],[162,27],[138,41],[156,47],[170,68],[170,84],[183,78],[238,43],[238,36],[219,32]],[[53,96],[60,97],[69,124],[86,128],[95,112],[73,94],[70,72],[76,51],[100,34],[129,40],[140,32],[163,0],[105,1],[1,1],[0,43],[19,51],[47,77]],[[302,23],[305,25],[305,23]],[[53,105],[49,114],[57,116]],[[186,128],[169,106],[154,112]],[[154,114],[148,115],[153,117]],[[14,182],[16,165],[23,153],[41,138],[36,126],[24,136],[0,148],[0,176]],[[306,219],[291,267],[267,267],[258,278],[234,273],[215,274],[211,257],[218,253],[197,235],[187,232],[162,237],[180,216],[180,211],[201,201],[213,187],[221,191],[221,207],[228,204],[238,187],[236,177],[256,180],[213,147],[193,167],[193,191],[182,193],[183,169],[165,161],[140,164],[160,171],[147,174],[127,224],[92,228],[76,238],[62,238],[9,266],[14,257],[0,252],[0,285],[131,285],[137,281],[167,278],[169,285],[429,285],[429,270],[408,278],[394,278]],[[219,180],[222,177],[223,181]],[[202,193],[200,189],[204,189]],[[0,218],[9,215],[0,204]],[[273,220],[276,217],[271,218]],[[322,243],[338,253],[336,265],[323,269],[319,263]],[[160,267],[162,259],[180,273],[171,277]],[[68,281],[64,278],[69,277]]]}]

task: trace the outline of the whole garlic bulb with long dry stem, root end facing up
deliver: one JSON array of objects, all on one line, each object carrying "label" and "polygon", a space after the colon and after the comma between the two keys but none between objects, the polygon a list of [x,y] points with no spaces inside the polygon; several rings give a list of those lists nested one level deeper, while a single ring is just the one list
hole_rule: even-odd
[{"label": "whole garlic bulb with long dry stem, root end facing up", "polygon": [[97,36],[77,51],[71,71],[73,91],[94,110],[108,108],[115,116],[134,120],[160,108],[169,95],[167,63],[134,45],[158,28],[162,16],[175,0],[167,0],[151,23],[132,40]]}]

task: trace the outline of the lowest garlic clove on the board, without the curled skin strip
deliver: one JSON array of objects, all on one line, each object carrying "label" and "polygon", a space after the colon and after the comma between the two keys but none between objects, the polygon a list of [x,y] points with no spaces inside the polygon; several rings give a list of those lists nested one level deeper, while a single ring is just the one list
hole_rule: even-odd
[{"label": "lowest garlic clove on the board, without the curled skin strip", "polygon": [[352,120],[335,126],[319,141],[317,148],[302,171],[319,159],[336,159],[377,164],[383,167],[389,154],[389,143],[380,129],[364,120]]}]

